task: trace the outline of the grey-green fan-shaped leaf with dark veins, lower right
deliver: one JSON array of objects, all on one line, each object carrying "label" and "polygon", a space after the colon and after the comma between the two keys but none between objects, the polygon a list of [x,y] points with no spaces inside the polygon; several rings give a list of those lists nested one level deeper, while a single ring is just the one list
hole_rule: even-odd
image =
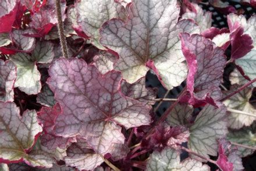
[{"label": "grey-green fan-shaped leaf with dark veins, lower right", "polygon": [[215,108],[211,105],[205,105],[204,109],[197,115],[194,124],[189,128],[190,137],[188,147],[201,154],[217,155],[217,139],[227,134],[226,126],[226,108],[221,106]]}]

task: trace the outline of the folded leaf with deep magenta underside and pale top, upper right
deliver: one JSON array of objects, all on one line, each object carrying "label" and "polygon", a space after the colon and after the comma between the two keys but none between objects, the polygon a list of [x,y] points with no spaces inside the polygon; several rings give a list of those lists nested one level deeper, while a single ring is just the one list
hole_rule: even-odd
[{"label": "folded leaf with deep magenta underside and pale top, upper right", "polygon": [[229,25],[232,45],[231,58],[242,58],[254,48],[253,39],[250,35],[244,34],[244,29],[246,29],[246,19],[244,17],[231,14],[227,16],[227,24]]}]

